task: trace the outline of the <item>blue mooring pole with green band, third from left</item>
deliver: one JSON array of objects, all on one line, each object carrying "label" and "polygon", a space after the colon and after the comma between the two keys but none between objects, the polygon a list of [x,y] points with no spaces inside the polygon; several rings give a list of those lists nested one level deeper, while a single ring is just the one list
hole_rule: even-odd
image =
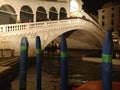
[{"label": "blue mooring pole with green band, third from left", "polygon": [[61,57],[61,86],[62,90],[68,90],[67,44],[64,35],[60,36],[60,57]]}]

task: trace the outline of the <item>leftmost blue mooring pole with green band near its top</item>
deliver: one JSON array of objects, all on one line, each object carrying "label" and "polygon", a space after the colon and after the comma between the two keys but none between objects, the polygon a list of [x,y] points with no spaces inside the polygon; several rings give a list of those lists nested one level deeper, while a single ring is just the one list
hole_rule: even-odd
[{"label": "leftmost blue mooring pole with green band near its top", "polygon": [[26,74],[27,74],[27,59],[28,59],[28,40],[22,37],[20,45],[20,90],[26,90]]}]

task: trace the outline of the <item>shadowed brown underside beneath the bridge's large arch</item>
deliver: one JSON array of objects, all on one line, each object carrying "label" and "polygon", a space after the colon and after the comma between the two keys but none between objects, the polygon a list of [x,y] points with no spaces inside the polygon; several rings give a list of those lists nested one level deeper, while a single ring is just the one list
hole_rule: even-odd
[{"label": "shadowed brown underside beneath the bridge's large arch", "polygon": [[[65,33],[68,48],[71,49],[101,49],[102,45],[98,38],[85,30],[74,30]],[[59,42],[59,38],[57,38]]]}]

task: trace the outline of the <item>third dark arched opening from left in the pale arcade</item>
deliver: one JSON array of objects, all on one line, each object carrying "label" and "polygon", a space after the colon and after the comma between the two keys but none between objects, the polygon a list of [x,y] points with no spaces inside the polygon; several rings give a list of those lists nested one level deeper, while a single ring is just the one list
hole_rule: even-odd
[{"label": "third dark arched opening from left in the pale arcade", "polygon": [[36,21],[47,20],[47,13],[44,7],[38,7],[36,11]]}]

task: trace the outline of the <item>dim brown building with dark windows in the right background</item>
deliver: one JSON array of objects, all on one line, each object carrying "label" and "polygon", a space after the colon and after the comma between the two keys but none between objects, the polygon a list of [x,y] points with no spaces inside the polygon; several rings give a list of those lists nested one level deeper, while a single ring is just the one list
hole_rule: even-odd
[{"label": "dim brown building with dark windows in the right background", "polygon": [[106,3],[98,10],[98,22],[105,30],[113,31],[113,41],[120,45],[120,3]]}]

